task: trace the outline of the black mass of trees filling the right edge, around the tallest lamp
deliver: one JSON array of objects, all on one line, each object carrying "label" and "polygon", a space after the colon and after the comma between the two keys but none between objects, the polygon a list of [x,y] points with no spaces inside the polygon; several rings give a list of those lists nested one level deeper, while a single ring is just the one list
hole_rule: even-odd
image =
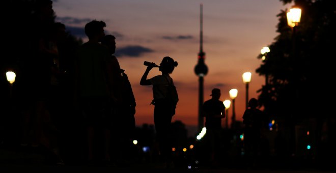
[{"label": "black mass of trees filling the right edge, around the tallest lamp", "polygon": [[[283,140],[289,143],[284,152],[317,160],[334,158],[336,115],[332,100],[335,90],[330,82],[336,8],[328,0],[281,2],[294,3],[300,8],[301,21],[291,28],[287,24],[288,11],[277,15],[279,34],[269,44],[270,52],[265,61],[256,69],[266,77],[259,91],[259,101],[269,118],[278,122]],[[262,56],[260,54],[258,59]],[[307,143],[313,143],[311,153],[303,147]]]}]

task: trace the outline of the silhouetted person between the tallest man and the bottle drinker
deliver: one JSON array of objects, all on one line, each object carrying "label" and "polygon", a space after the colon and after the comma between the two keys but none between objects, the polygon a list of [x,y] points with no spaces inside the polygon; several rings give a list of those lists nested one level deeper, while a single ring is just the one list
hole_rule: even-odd
[{"label": "silhouetted person between the tallest man and the bottle drinker", "polygon": [[115,134],[118,138],[117,142],[113,143],[113,148],[118,148],[116,154],[116,162],[118,165],[129,164],[131,139],[134,137],[135,130],[135,97],[132,91],[132,86],[128,80],[128,76],[124,69],[120,68],[118,59],[113,54],[116,51],[116,37],[113,35],[106,35],[102,41],[102,45],[107,46],[110,52],[110,59],[108,63],[108,71],[110,75],[110,86],[116,98],[115,103],[111,103],[111,107],[115,113],[113,129],[118,131]]}]

